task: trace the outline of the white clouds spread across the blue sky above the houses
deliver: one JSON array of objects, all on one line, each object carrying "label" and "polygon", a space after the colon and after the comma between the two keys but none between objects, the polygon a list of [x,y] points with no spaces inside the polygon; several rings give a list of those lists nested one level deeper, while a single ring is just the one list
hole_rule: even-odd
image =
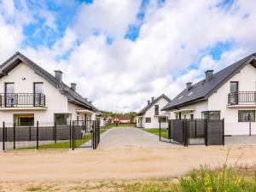
[{"label": "white clouds spread across the blue sky above the houses", "polygon": [[[185,83],[203,78],[207,69],[216,72],[256,48],[253,0],[236,1],[229,9],[217,6],[220,0],[156,2],[149,3],[136,42],[123,37],[128,25],[137,22],[140,2],[97,0],[81,6],[75,23],[51,48],[28,47],[24,54],[49,72],[61,69],[66,83],[77,83],[98,108],[130,111],[143,108],[151,96],[172,98]],[[4,37],[12,34],[12,26],[2,24]],[[95,36],[94,29],[102,33]],[[9,49],[22,41],[22,32],[15,35],[19,41]],[[113,44],[106,44],[107,35],[113,36]],[[217,60],[207,50],[219,43],[231,45]],[[55,61],[67,51],[67,61]]]}]

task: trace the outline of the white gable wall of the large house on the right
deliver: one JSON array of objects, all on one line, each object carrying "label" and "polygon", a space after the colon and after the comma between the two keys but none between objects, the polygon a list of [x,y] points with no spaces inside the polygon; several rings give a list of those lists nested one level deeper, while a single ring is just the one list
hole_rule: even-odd
[{"label": "white gable wall of the large house on the right", "polygon": [[[208,108],[209,110],[220,111],[221,119],[224,118],[226,135],[246,135],[249,129],[249,123],[238,122],[238,110],[256,110],[256,105],[247,108],[241,108],[241,106],[237,106],[237,108],[228,108],[230,81],[239,82],[239,91],[256,91],[256,69],[250,64],[243,67],[240,73],[237,73],[227,83],[219,88],[216,93],[209,97]],[[253,123],[253,125],[254,124],[255,123]]]}]

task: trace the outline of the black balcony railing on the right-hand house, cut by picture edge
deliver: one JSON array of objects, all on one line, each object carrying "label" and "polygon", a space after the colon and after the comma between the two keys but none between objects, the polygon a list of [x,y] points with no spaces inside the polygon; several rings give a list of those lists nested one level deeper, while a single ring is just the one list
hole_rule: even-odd
[{"label": "black balcony railing on the right-hand house, cut by picture edge", "polygon": [[256,104],[256,91],[238,91],[229,93],[229,105],[253,104]]}]

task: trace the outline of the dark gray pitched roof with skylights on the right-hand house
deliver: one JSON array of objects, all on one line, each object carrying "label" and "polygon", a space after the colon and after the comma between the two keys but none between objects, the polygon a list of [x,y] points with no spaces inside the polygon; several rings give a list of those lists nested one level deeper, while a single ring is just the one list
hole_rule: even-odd
[{"label": "dark gray pitched roof with skylights on the right-hand house", "polygon": [[191,104],[193,102],[201,102],[207,100],[207,98],[211,96],[216,90],[218,90],[220,86],[232,78],[236,73],[239,73],[241,68],[245,67],[247,63],[250,63],[253,65],[253,67],[256,67],[255,56],[256,53],[248,55],[241,61],[237,61],[229,67],[222,69],[218,73],[213,73],[211,80],[206,81],[206,79],[203,79],[200,82],[192,85],[192,88],[189,90],[183,90],[171,102],[169,102],[165,108],[162,108],[161,110],[170,110]]}]

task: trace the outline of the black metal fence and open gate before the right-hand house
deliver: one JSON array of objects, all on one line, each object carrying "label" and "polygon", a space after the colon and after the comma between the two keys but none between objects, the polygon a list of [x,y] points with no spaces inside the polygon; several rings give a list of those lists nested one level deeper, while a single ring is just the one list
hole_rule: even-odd
[{"label": "black metal fence and open gate before the right-hand house", "polygon": [[160,141],[189,145],[224,145],[224,119],[170,119],[160,123]]}]

